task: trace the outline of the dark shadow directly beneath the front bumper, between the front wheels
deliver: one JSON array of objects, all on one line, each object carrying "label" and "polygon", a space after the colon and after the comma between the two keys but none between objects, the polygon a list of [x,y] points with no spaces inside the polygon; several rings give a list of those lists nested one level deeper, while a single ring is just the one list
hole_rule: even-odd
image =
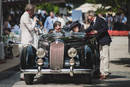
[{"label": "dark shadow directly beneath the front bumper, between the front wheels", "polygon": [[34,84],[85,84],[83,75],[44,75],[34,81]]}]

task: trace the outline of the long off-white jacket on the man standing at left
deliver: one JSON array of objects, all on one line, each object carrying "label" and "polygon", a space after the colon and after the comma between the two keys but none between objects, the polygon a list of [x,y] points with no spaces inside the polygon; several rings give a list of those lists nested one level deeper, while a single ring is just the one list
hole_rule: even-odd
[{"label": "long off-white jacket on the man standing at left", "polygon": [[20,19],[20,29],[21,29],[21,43],[22,44],[33,44],[33,30],[35,28],[36,22],[30,18],[28,12],[24,12]]}]

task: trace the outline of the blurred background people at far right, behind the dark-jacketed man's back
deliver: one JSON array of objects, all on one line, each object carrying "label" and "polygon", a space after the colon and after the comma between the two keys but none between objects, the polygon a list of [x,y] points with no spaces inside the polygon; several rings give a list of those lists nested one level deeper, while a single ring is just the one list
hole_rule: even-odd
[{"label": "blurred background people at far right, behind the dark-jacketed man's back", "polygon": [[100,15],[108,24],[109,30],[128,30],[127,17],[124,13]]}]

